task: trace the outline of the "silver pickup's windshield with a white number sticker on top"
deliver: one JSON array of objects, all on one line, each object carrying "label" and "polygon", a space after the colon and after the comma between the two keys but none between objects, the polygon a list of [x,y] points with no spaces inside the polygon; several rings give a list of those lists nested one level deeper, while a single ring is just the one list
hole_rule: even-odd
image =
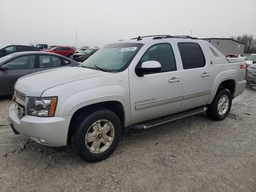
[{"label": "silver pickup's windshield with a white number sticker on top", "polygon": [[143,44],[140,43],[108,44],[85,60],[82,65],[84,67],[96,65],[108,71],[120,72],[127,67],[142,46]]}]

